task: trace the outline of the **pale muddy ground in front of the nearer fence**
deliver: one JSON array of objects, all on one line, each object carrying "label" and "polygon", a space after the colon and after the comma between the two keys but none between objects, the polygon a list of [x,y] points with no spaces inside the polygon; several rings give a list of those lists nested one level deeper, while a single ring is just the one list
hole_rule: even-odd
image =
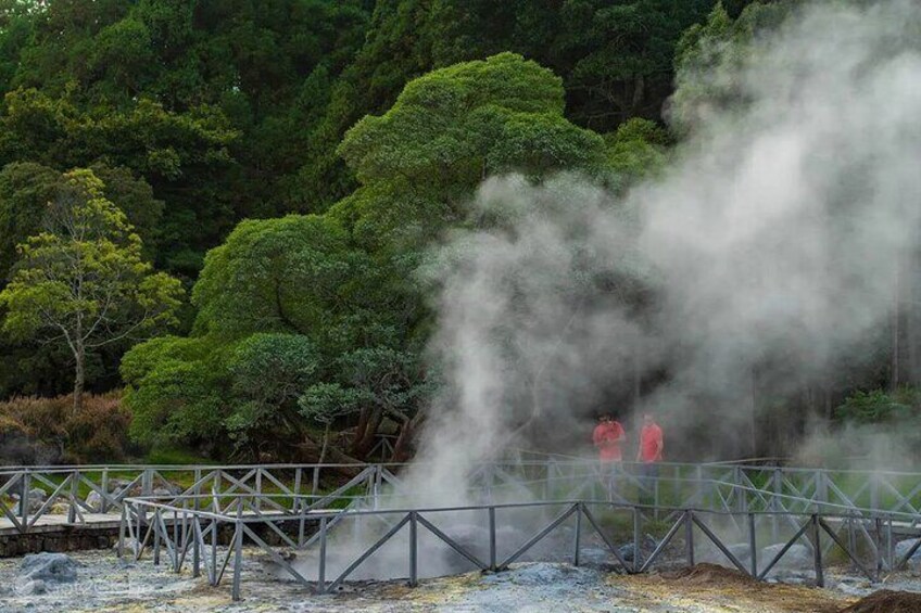
[{"label": "pale muddy ground in front of the nearer fence", "polygon": [[[608,611],[613,613],[716,613],[741,611],[837,612],[881,587],[916,588],[911,577],[871,586],[830,574],[829,589],[756,583],[709,564],[693,570],[623,576],[602,569],[531,562],[497,574],[467,573],[426,579],[416,588],[404,582],[366,582],[339,593],[314,596],[266,571],[257,557],[245,562],[243,600],[230,600],[229,576],[218,587],[189,572],[177,575],[150,560],[123,562],[112,552],[74,553],[80,566],[73,584],[49,586],[47,593],[24,595],[17,579],[21,559],[0,561],[0,611],[156,611],[269,612],[371,611],[387,613]],[[873,609],[851,609],[872,611]],[[881,609],[881,611],[884,609]],[[910,610],[910,609],[907,609]]]}]

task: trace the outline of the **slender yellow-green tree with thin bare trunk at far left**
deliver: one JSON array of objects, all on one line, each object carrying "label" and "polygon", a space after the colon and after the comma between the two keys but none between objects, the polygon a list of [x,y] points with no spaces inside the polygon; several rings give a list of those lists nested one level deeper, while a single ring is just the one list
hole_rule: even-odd
[{"label": "slender yellow-green tree with thin bare trunk at far left", "polygon": [[91,170],[73,170],[50,205],[46,231],[21,245],[0,292],[3,329],[65,344],[74,358],[74,410],[81,407],[86,356],[175,323],[179,282],[141,259],[141,241],[103,196]]}]

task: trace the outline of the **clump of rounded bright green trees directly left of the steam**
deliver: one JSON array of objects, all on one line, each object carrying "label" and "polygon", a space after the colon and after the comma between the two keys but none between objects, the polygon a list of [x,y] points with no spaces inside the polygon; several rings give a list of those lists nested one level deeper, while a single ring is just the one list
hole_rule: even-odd
[{"label": "clump of rounded bright green trees directly left of the steam", "polygon": [[[654,133],[642,126],[621,137]],[[414,274],[431,241],[478,222],[467,203],[485,177],[541,181],[608,167],[605,140],[564,117],[560,79],[510,53],[413,80],[339,151],[361,182],[352,195],[323,215],[239,224],[205,257],[191,337],[153,340],[125,357],[136,434],[232,435],[256,454],[273,442],[292,448],[281,445],[283,423],[325,458],[337,423],[354,426],[349,450],[364,458],[390,420],[400,427],[395,457],[407,457],[432,385],[419,359],[429,315]],[[260,379],[267,371],[281,379]],[[310,423],[324,426],[321,445],[307,442]]]}]

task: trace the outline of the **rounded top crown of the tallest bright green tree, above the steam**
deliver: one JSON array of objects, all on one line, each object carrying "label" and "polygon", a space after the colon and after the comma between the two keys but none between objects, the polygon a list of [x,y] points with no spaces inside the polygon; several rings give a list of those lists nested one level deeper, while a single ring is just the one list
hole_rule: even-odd
[{"label": "rounded top crown of the tallest bright green tree, above the steam", "polygon": [[513,53],[429,73],[345,135],[339,153],[362,186],[330,214],[371,251],[405,254],[463,222],[491,175],[601,168],[603,139],[563,111],[560,79]]}]

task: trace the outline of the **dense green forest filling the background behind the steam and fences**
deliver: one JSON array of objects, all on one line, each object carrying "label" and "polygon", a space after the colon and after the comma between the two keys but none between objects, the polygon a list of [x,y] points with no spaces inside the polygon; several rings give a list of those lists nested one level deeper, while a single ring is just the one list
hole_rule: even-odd
[{"label": "dense green forest filling the background behind the steam and fences", "polygon": [[[670,101],[731,95],[694,75],[791,4],[3,1],[3,459],[409,458],[439,385],[414,271],[494,222],[480,182],[654,176]],[[749,454],[919,405],[905,288],[859,373],[772,407]]]}]

